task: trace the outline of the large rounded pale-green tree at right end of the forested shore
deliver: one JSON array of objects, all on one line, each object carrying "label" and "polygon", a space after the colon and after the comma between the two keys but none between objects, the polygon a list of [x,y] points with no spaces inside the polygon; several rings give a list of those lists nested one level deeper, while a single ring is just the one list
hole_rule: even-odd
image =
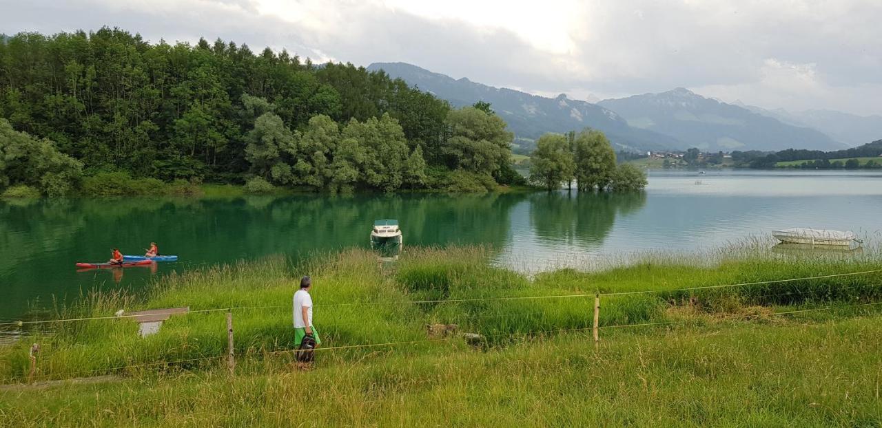
[{"label": "large rounded pale-green tree at right end of the forested shore", "polygon": [[514,136],[496,114],[463,107],[447,114],[447,124],[450,137],[443,152],[449,166],[492,174],[510,161]]}]

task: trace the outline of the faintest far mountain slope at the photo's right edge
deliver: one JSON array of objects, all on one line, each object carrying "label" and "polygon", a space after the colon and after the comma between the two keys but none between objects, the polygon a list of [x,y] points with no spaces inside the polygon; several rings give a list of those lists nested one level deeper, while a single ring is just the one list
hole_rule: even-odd
[{"label": "faintest far mountain slope at the photo's right edge", "polygon": [[767,110],[762,107],[745,106],[751,112],[774,117],[781,122],[818,129],[834,140],[857,146],[882,138],[882,116],[859,116],[835,110],[805,110],[791,113],[783,108]]}]

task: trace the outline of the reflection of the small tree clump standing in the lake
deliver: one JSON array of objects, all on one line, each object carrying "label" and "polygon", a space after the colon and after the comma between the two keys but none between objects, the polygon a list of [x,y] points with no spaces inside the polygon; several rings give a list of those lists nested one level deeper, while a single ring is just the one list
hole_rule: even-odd
[{"label": "reflection of the small tree clump standing in the lake", "polygon": [[549,192],[530,198],[530,225],[542,240],[597,247],[617,215],[643,208],[647,196],[637,193]]}]

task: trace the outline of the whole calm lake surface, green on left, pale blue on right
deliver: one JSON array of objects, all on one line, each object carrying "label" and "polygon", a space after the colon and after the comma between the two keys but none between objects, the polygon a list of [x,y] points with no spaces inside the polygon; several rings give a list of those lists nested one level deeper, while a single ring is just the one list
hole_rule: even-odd
[{"label": "whole calm lake surface, green on left, pale blue on right", "polygon": [[[882,174],[654,171],[639,195],[245,196],[0,202],[0,319],[75,299],[137,290],[171,269],[369,246],[377,218],[398,218],[405,245],[489,244],[499,264],[536,270],[644,250],[715,247],[786,227],[882,238]],[[93,269],[110,247],[143,254],[151,240],[181,262]],[[406,251],[407,249],[405,249]]]}]

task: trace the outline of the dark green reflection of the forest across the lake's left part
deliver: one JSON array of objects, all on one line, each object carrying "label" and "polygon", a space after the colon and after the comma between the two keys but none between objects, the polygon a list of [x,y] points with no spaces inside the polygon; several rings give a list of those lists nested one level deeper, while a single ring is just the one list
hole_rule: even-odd
[{"label": "dark green reflection of the forest across the lake's left part", "polygon": [[[160,269],[233,262],[270,254],[305,255],[368,247],[380,218],[397,218],[408,245],[489,243],[503,247],[512,207],[525,195],[297,195],[237,198],[138,197],[0,203],[0,318],[28,302],[75,295],[102,284],[138,289],[146,269],[77,273],[74,262],[103,262],[110,247],[143,254],[150,241],[181,262]],[[116,277],[114,277],[116,275]]]}]

